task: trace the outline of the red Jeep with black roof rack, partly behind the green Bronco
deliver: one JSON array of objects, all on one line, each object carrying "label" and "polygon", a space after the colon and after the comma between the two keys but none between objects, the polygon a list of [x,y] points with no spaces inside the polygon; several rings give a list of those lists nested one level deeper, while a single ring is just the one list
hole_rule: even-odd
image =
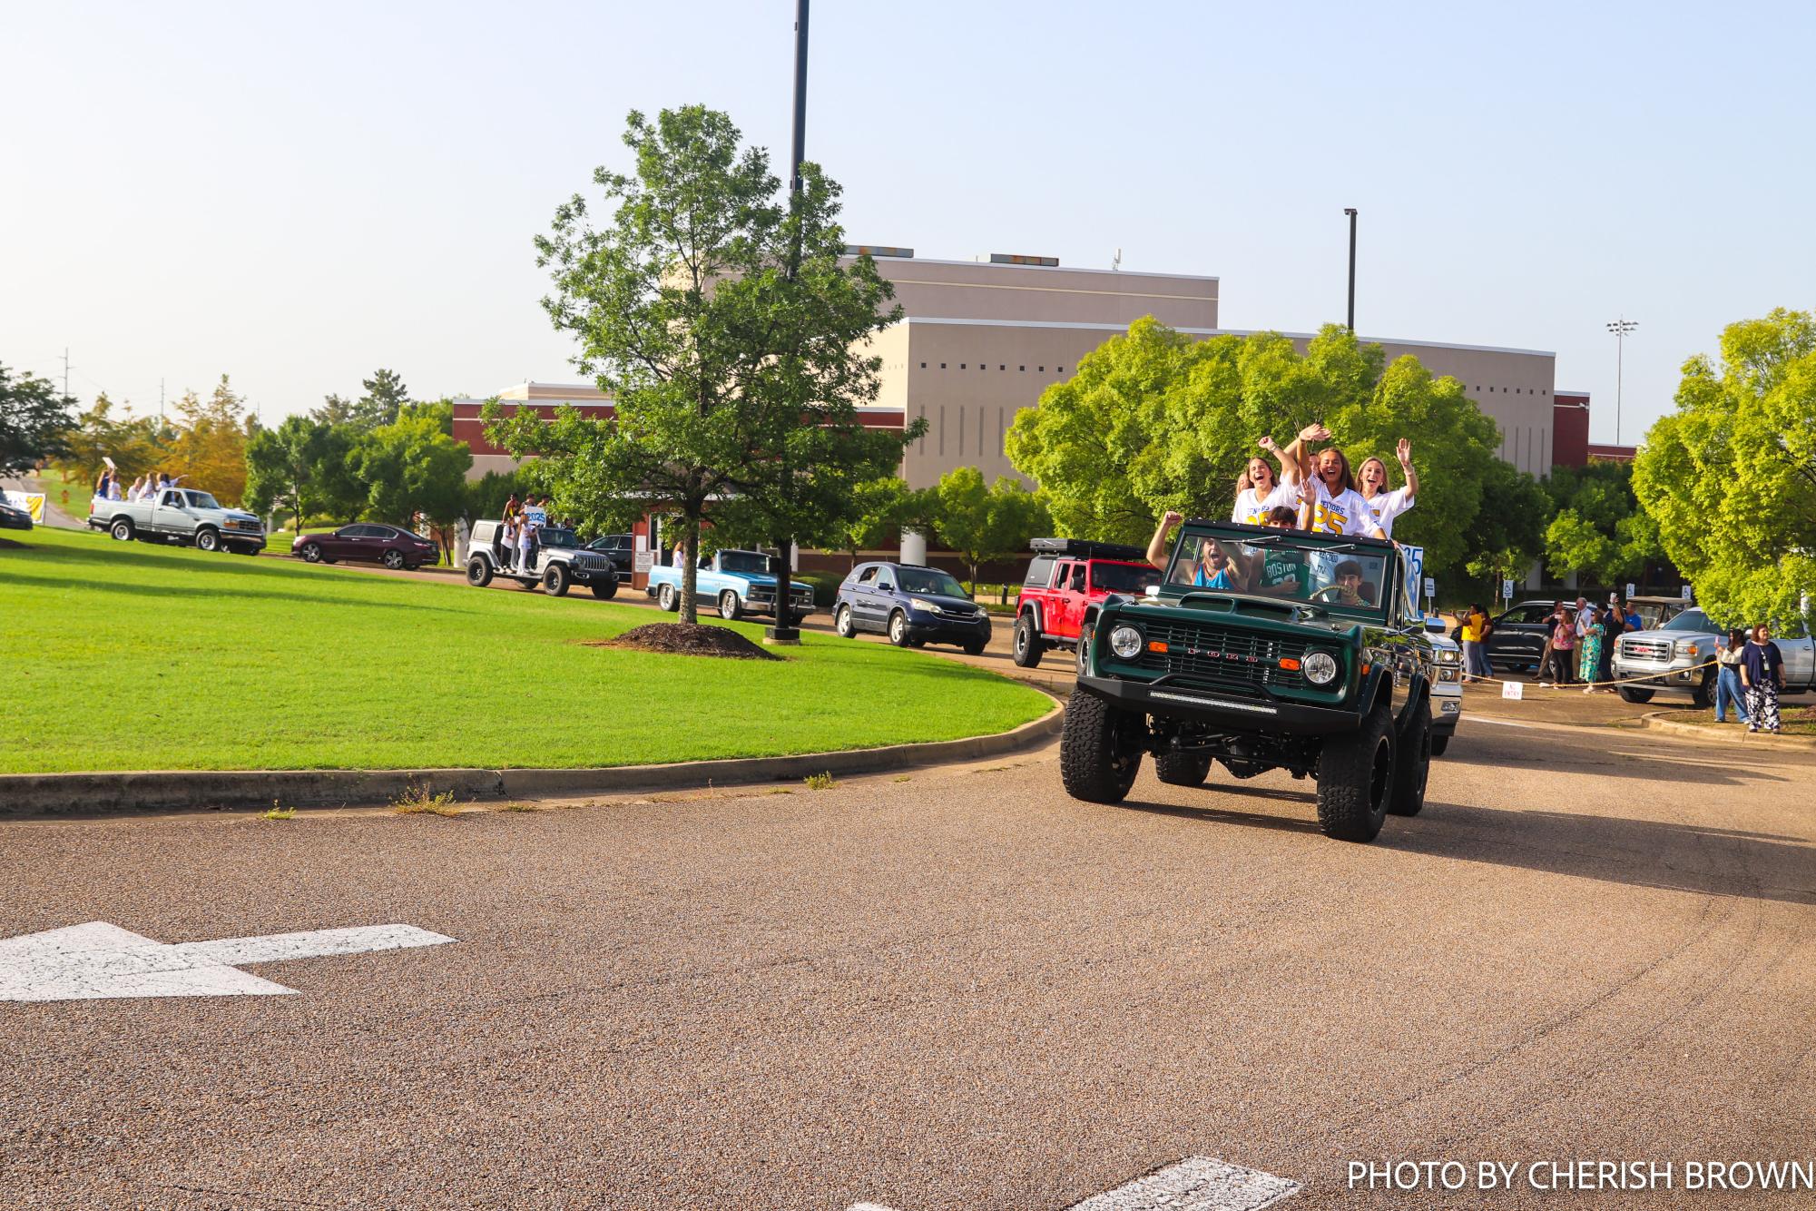
[{"label": "red Jeep with black roof rack, partly behind the green Bronco", "polygon": [[1160,572],[1140,546],[1081,537],[1037,537],[1015,596],[1015,663],[1033,668],[1048,648],[1077,652],[1079,630],[1110,594],[1140,597]]}]

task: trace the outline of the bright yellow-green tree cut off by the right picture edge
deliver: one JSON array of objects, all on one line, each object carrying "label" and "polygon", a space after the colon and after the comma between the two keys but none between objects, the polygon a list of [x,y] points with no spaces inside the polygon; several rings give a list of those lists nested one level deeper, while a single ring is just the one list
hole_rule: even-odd
[{"label": "bright yellow-green tree cut off by the right picture edge", "polygon": [[1711,614],[1800,619],[1816,596],[1816,314],[1732,323],[1720,361],[1685,361],[1633,487]]}]

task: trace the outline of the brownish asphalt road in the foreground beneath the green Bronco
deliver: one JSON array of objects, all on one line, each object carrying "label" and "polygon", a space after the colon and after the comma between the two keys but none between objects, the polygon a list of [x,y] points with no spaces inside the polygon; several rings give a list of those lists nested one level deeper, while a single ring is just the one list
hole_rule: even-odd
[{"label": "brownish asphalt road in the foreground beneath the green Bronco", "polygon": [[1288,1207],[1455,1206],[1346,1166],[1807,1160],[1816,753],[1705,748],[1469,721],[1373,846],[1320,837],[1309,783],[1104,808],[1050,752],[4,821],[0,937],[458,940],[247,968],[289,997],[0,1004],[0,1206],[1041,1209],[1191,1155]]}]

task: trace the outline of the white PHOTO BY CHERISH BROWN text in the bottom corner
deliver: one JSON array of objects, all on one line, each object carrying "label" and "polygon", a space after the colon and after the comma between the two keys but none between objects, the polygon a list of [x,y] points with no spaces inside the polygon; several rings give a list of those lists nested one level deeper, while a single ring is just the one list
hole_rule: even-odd
[{"label": "white PHOTO BY CHERISH BROWN text in the bottom corner", "polygon": [[1816,1191],[1803,1160],[1349,1160],[1349,1189]]}]

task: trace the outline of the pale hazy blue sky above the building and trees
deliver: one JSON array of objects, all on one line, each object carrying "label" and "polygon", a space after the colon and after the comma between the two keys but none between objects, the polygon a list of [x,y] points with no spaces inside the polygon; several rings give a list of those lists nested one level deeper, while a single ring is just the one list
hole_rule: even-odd
[{"label": "pale hazy blue sky above the building and trees", "polygon": [[[0,0],[0,361],[267,421],[572,379],[530,238],[625,111],[788,154],[792,0]],[[819,0],[808,156],[857,241],[1217,274],[1222,321],[1558,352],[1614,436],[1723,323],[1812,307],[1816,9]]]}]

